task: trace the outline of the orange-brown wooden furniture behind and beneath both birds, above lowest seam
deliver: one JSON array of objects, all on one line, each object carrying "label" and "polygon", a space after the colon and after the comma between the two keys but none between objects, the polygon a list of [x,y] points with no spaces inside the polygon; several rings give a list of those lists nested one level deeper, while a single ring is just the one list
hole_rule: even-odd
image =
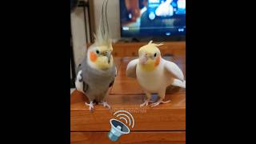
[{"label": "orange-brown wooden furniture behind and beneath both birds, above lowest seam", "polygon": [[[85,102],[88,99],[77,90],[70,95],[71,131],[109,131],[110,118],[116,110],[127,110],[134,116],[133,130],[186,130],[186,90],[170,86],[166,90],[166,104],[151,108],[139,106],[145,98],[142,88],[134,78],[126,77],[126,66],[134,58],[115,58],[118,75],[106,100],[112,107],[107,110],[101,105],[94,106],[90,113]],[[166,58],[170,60],[170,58]],[[186,75],[185,57],[171,58]],[[156,98],[154,96],[154,98]]]}]

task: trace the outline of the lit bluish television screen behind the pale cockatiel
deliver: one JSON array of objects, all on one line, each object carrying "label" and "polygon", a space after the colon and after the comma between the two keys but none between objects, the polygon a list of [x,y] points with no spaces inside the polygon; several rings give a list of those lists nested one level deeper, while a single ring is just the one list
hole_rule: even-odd
[{"label": "lit bluish television screen behind the pale cockatiel", "polygon": [[186,0],[120,0],[122,37],[183,36]]}]

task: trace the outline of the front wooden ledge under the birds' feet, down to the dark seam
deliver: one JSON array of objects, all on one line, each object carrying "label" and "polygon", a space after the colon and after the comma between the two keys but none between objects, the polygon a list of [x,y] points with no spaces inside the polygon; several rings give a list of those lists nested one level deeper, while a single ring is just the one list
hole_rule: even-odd
[{"label": "front wooden ledge under the birds' feet, down to the dark seam", "polygon": [[186,130],[185,94],[167,94],[166,99],[172,102],[153,108],[139,106],[143,97],[143,94],[109,95],[107,100],[112,110],[96,105],[94,112],[91,113],[84,104],[88,100],[75,90],[71,98],[70,129],[71,131],[110,130],[110,119],[115,118],[114,112],[126,110],[134,116],[133,130]]}]

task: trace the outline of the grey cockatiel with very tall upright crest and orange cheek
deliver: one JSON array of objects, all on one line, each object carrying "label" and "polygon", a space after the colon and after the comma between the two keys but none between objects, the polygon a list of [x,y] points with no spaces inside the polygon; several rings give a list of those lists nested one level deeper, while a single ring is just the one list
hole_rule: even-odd
[{"label": "grey cockatiel with very tall upright crest and orange cheek", "polygon": [[113,85],[117,74],[111,54],[113,47],[110,38],[110,29],[106,18],[107,0],[103,2],[102,14],[95,36],[95,42],[86,50],[86,58],[78,66],[75,82],[76,89],[89,98],[89,110],[94,109],[94,102],[99,102],[110,108],[106,103],[106,95]]}]

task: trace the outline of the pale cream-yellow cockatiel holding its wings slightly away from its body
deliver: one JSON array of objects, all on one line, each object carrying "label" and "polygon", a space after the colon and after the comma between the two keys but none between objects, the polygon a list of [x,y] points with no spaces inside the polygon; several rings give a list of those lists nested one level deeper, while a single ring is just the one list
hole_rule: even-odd
[{"label": "pale cream-yellow cockatiel holding its wings slightly away from its body", "polygon": [[130,61],[126,68],[126,76],[137,78],[146,92],[147,99],[141,106],[148,105],[152,93],[157,93],[160,97],[158,102],[151,104],[152,107],[170,102],[162,101],[165,98],[167,86],[186,88],[182,70],[174,62],[163,59],[157,46],[162,44],[150,41],[146,46],[142,46],[138,50],[139,58]]}]

